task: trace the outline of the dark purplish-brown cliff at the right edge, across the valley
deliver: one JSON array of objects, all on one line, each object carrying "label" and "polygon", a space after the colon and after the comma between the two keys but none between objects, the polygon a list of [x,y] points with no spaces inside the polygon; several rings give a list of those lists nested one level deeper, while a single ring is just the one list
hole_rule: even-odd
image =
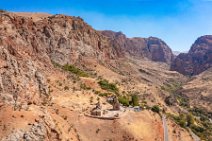
[{"label": "dark purplish-brown cliff at the right edge, across the valley", "polygon": [[179,54],[171,70],[184,75],[197,75],[212,66],[212,36],[202,36],[192,45],[188,53]]}]

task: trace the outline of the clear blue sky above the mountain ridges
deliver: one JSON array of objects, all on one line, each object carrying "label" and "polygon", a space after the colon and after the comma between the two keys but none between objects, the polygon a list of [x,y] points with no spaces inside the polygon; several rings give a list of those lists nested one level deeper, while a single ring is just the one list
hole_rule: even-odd
[{"label": "clear blue sky above the mountain ridges", "polygon": [[212,34],[212,0],[1,0],[0,9],[80,16],[97,30],[159,37],[177,51]]}]

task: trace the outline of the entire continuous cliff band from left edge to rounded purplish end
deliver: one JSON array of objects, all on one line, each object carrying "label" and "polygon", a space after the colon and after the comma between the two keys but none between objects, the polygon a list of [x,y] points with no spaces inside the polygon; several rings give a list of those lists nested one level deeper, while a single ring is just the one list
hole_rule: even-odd
[{"label": "entire continuous cliff band from left edge to rounded purplish end", "polygon": [[21,91],[33,93],[25,93],[23,98],[41,93],[48,97],[43,70],[51,68],[51,62],[86,66],[91,60],[109,65],[127,54],[166,63],[173,58],[160,39],[129,39],[122,33],[99,32],[79,17],[45,15],[35,19],[23,13],[0,14],[0,91],[9,97]]}]

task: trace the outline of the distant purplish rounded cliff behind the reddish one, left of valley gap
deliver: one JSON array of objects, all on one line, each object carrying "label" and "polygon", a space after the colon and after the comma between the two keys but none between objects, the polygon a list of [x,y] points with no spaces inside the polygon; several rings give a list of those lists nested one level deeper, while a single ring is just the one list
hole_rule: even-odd
[{"label": "distant purplish rounded cliff behind the reddish one, left of valley gap", "polygon": [[174,55],[168,45],[161,39],[149,38],[127,38],[121,32],[102,31],[102,34],[109,37],[116,48],[121,48],[126,54],[133,57],[148,58],[156,62],[170,64]]}]

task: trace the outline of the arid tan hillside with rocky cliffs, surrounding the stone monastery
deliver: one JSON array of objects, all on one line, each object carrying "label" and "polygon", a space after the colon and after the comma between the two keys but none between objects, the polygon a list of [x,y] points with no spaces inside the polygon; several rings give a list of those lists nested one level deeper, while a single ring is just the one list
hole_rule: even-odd
[{"label": "arid tan hillside with rocky cliffs, surrounding the stone monastery", "polygon": [[[182,111],[165,99],[196,83],[170,71],[174,55],[161,39],[97,31],[80,17],[0,14],[2,141],[162,141],[161,114]],[[127,106],[136,95],[142,111],[123,106],[118,119],[86,116],[97,102],[111,112],[111,95]],[[169,139],[192,140],[174,121],[168,117]]]}]

